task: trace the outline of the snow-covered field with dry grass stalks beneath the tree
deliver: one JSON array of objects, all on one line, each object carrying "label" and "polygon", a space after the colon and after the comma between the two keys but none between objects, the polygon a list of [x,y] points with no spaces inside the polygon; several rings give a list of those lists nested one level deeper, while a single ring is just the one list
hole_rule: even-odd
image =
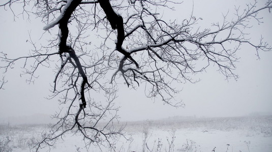
[{"label": "snow-covered field with dry grass stalks beneath the tree", "polygon": [[[272,116],[236,118],[169,118],[126,122],[127,138],[116,151],[272,151]],[[1,125],[0,151],[32,151],[46,125]],[[40,151],[48,151],[41,149]],[[67,135],[50,151],[101,151],[84,147],[80,136]],[[105,149],[103,151],[109,151]]]}]

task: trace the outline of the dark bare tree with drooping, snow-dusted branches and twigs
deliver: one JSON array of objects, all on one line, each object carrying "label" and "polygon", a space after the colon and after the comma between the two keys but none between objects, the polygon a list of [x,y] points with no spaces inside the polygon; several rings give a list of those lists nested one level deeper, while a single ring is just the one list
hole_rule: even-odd
[{"label": "dark bare tree with drooping, snow-dusted branches and twigs", "polygon": [[[120,82],[134,89],[144,83],[147,97],[184,106],[182,100],[175,100],[181,91],[177,84],[198,82],[193,75],[209,66],[216,66],[226,79],[237,79],[236,52],[241,45],[254,48],[257,55],[272,49],[263,37],[252,42],[245,33],[252,26],[250,20],[262,23],[258,13],[270,11],[271,0],[258,8],[257,1],[245,10],[237,7],[231,21],[227,14],[222,23],[215,22],[207,29],[198,27],[202,19],[193,12],[181,23],[167,21],[160,10],[182,5],[169,0],[10,0],[0,7],[12,10],[14,5],[22,6],[22,15],[41,18],[44,30],[52,32],[48,44],[40,48],[30,40],[34,49],[27,56],[12,59],[4,52],[0,55],[4,72],[23,60],[23,74],[29,75],[29,82],[37,78],[41,66],[55,72],[48,99],[57,99],[61,107],[54,115],[57,123],[43,134],[37,150],[54,145],[69,133],[80,133],[86,145],[114,150],[115,139],[123,136],[123,127],[114,128],[119,108],[113,104],[115,86]],[[0,89],[6,83],[3,77]],[[103,96],[95,99],[96,95]]]}]

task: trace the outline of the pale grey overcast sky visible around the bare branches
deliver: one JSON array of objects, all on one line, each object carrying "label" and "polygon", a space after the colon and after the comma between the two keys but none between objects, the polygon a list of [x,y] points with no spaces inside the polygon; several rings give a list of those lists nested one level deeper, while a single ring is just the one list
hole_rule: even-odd
[{"label": "pale grey overcast sky visible around the bare branches", "polygon": [[[222,13],[229,10],[231,16],[234,5],[244,6],[246,2],[248,1],[196,0],[194,16],[203,18],[199,26],[209,27],[211,22],[222,21]],[[184,2],[177,8],[176,18],[183,20],[185,16],[190,15],[191,10],[192,1]],[[167,12],[165,14],[167,15]],[[264,24],[253,22],[254,27],[248,32],[253,40],[258,41],[262,35],[264,40],[272,45],[272,14],[265,10],[260,15],[264,17]],[[28,31],[31,31],[36,39],[43,32],[44,24],[41,24],[39,19],[32,19],[30,23],[22,19],[13,22],[11,12],[4,11],[3,8],[0,9],[0,19],[0,51],[10,56],[25,55],[31,49],[26,43],[29,39]],[[241,57],[235,70],[240,77],[238,81],[226,81],[223,75],[211,67],[206,73],[196,76],[201,79],[199,83],[185,84],[182,93],[176,95],[177,98],[183,99],[185,108],[163,105],[159,100],[154,102],[144,96],[142,88],[135,91],[129,90],[125,85],[120,86],[120,92],[123,93],[119,94],[116,100],[116,105],[122,106],[119,116],[122,120],[133,121],[171,116],[232,117],[245,116],[252,112],[272,113],[272,52],[260,52],[260,60],[257,60],[255,53],[255,50],[248,46],[238,53]],[[5,90],[0,90],[0,122],[6,121],[8,117],[36,113],[51,115],[57,109],[56,99],[45,99],[49,95],[48,82],[51,83],[54,79],[54,76],[50,75],[52,72],[41,71],[45,74],[40,75],[34,85],[27,85],[25,77],[20,77],[20,71],[19,66],[9,70],[6,77],[9,82],[5,85]]]}]

